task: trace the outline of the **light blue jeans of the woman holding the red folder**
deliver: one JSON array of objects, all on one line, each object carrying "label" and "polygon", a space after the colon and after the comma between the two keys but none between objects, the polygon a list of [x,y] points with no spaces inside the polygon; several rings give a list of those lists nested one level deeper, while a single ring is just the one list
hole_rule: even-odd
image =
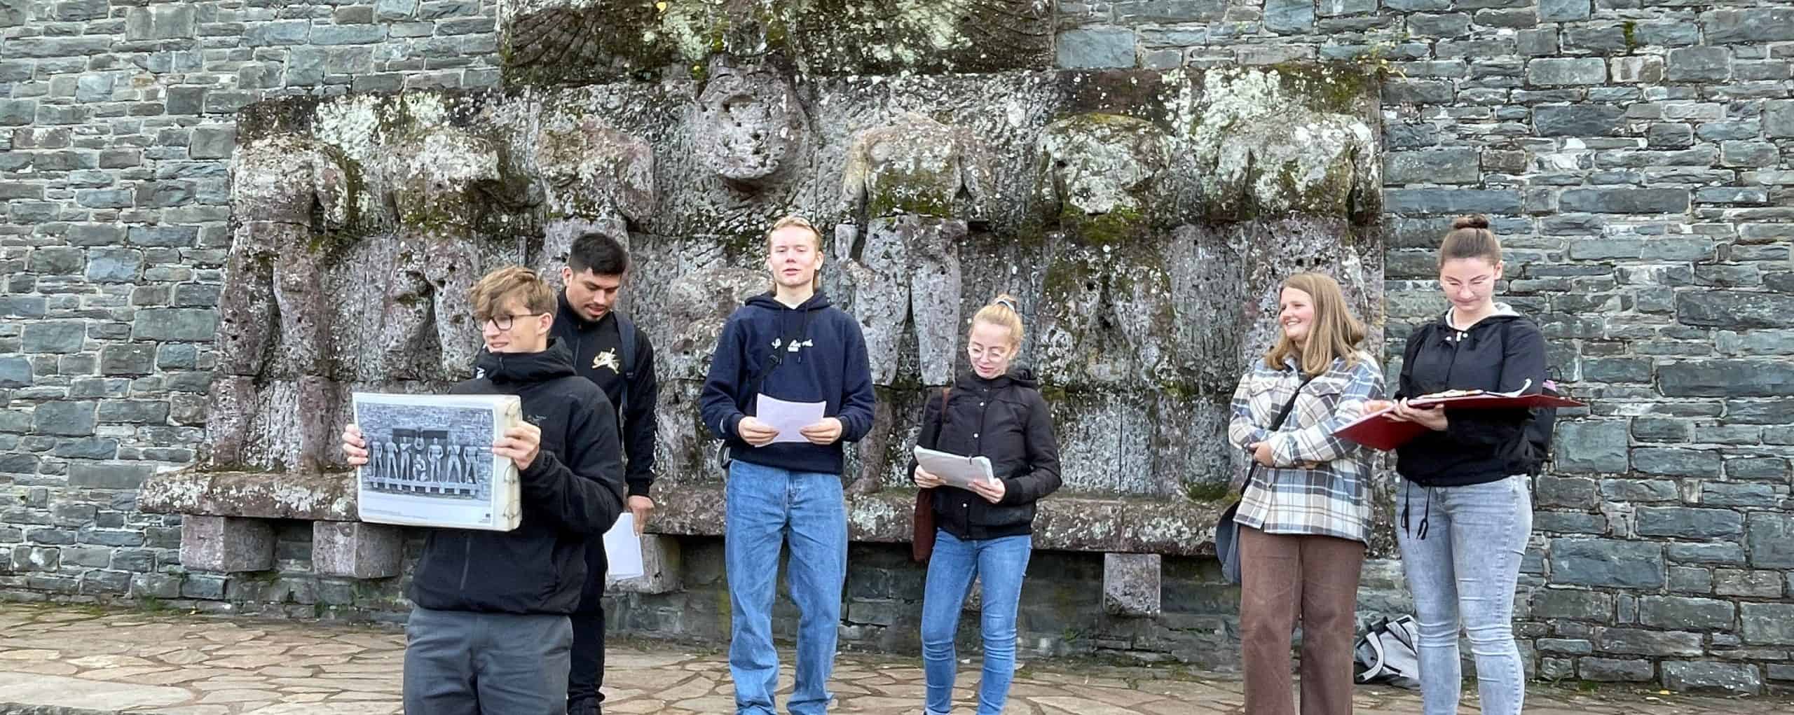
[{"label": "light blue jeans of the woman holding the red folder", "polygon": [[[1532,496],[1527,477],[1464,487],[1433,487],[1410,495],[1426,504],[1412,529],[1398,529],[1401,564],[1414,591],[1419,625],[1421,708],[1426,715],[1459,711],[1464,674],[1459,665],[1459,625],[1476,658],[1476,690],[1484,715],[1516,715],[1527,699],[1527,670],[1514,645],[1514,584],[1532,536]],[[1421,504],[1414,504],[1421,505]]]}]

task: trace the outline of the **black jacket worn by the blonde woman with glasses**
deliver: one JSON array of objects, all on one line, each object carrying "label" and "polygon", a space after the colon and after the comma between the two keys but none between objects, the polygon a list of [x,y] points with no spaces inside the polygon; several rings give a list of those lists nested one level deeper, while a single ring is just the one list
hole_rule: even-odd
[{"label": "black jacket worn by the blonde woman with glasses", "polygon": [[[1003,500],[987,502],[967,489],[935,489],[935,525],[962,539],[996,539],[1033,532],[1033,502],[1060,486],[1053,416],[1028,371],[994,380],[967,373],[922,409],[919,444],[967,457],[988,457],[1003,478]],[[945,419],[942,418],[945,414]],[[915,461],[910,462],[915,477]]]}]

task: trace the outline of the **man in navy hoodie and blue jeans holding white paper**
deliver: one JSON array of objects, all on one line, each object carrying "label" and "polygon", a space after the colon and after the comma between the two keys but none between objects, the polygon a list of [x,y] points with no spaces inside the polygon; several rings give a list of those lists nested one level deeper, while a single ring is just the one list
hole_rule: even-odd
[{"label": "man in navy hoodie and blue jeans holding white paper", "polygon": [[[728,670],[737,715],[773,715],[779,652],[771,609],[779,550],[789,543],[786,584],[802,613],[793,715],[829,711],[847,502],[841,443],[872,428],[872,369],[859,323],[816,290],[822,233],[788,217],[766,231],[773,290],[753,296],[723,326],[703,383],[703,423],[730,448],[723,559],[732,607]],[[782,435],[753,416],[759,394],[823,403],[820,423]]]}]

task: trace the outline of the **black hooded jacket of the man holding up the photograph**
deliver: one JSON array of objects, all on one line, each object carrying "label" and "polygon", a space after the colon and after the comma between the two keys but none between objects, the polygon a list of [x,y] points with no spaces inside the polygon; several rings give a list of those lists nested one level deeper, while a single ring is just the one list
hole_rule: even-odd
[{"label": "black hooded jacket of the man holding up the photograph", "polygon": [[515,530],[431,529],[411,575],[411,600],[436,611],[572,613],[585,582],[585,545],[623,513],[617,410],[574,375],[558,340],[542,353],[484,353],[452,394],[515,394],[542,428],[542,450],[518,475]]}]

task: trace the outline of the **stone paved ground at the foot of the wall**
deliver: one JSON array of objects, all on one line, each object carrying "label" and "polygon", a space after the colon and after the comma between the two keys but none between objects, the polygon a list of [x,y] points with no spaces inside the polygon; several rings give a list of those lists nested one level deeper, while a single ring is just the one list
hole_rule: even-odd
[{"label": "stone paved ground at the foot of the wall", "polygon": [[[221,620],[178,613],[7,604],[0,609],[0,715],[126,711],[163,715],[398,713],[404,636],[368,627]],[[728,667],[716,652],[614,645],[608,713],[727,713]],[[789,658],[788,658],[789,661]],[[960,693],[976,679],[962,667]],[[789,686],[789,676],[786,676]],[[890,656],[841,656],[840,713],[919,713],[922,672]],[[962,706],[967,702],[962,701]],[[1028,667],[1010,713],[1241,713],[1240,683],[1087,663]],[[1358,713],[1417,713],[1412,693],[1360,688]],[[1464,713],[1475,713],[1467,702]],[[1794,701],[1701,699],[1536,688],[1532,715],[1794,711]]]}]

